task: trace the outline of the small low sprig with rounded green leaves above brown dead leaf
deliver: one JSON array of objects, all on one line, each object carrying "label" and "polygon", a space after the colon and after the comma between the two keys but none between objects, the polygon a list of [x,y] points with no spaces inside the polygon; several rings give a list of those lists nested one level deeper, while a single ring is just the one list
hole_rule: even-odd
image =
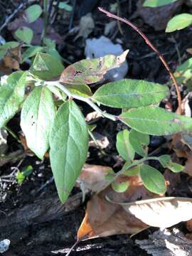
[{"label": "small low sprig with rounded green leaves above brown dead leaf", "polygon": [[[125,176],[140,176],[144,186],[153,193],[165,193],[166,185],[164,176],[160,171],[154,167],[145,164],[145,161],[156,160],[161,163],[164,168],[168,168],[173,172],[183,171],[184,167],[180,164],[176,164],[171,161],[169,155],[162,155],[159,157],[148,156],[149,135],[137,132],[131,129],[130,132],[127,129],[117,134],[117,151],[120,156],[126,161],[122,170],[119,171],[114,178],[117,178],[119,174]],[[142,156],[142,159],[134,160],[135,153]],[[113,178],[113,180],[114,180]],[[129,187],[129,182],[117,183],[112,182],[112,188],[118,193],[122,193]]]}]

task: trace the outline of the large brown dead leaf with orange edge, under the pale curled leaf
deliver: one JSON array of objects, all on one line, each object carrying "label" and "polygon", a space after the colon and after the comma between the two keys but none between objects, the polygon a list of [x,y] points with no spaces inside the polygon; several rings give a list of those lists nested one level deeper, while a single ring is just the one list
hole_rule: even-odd
[{"label": "large brown dead leaf with orange edge, under the pale curled leaf", "polygon": [[122,206],[107,201],[106,197],[113,201],[130,202],[155,195],[144,188],[142,181],[137,176],[119,176],[117,182],[119,181],[129,182],[127,191],[117,193],[111,186],[108,186],[87,203],[85,218],[78,230],[78,239],[125,233],[134,234],[148,227],[141,220],[135,218],[132,213],[125,211]]}]

